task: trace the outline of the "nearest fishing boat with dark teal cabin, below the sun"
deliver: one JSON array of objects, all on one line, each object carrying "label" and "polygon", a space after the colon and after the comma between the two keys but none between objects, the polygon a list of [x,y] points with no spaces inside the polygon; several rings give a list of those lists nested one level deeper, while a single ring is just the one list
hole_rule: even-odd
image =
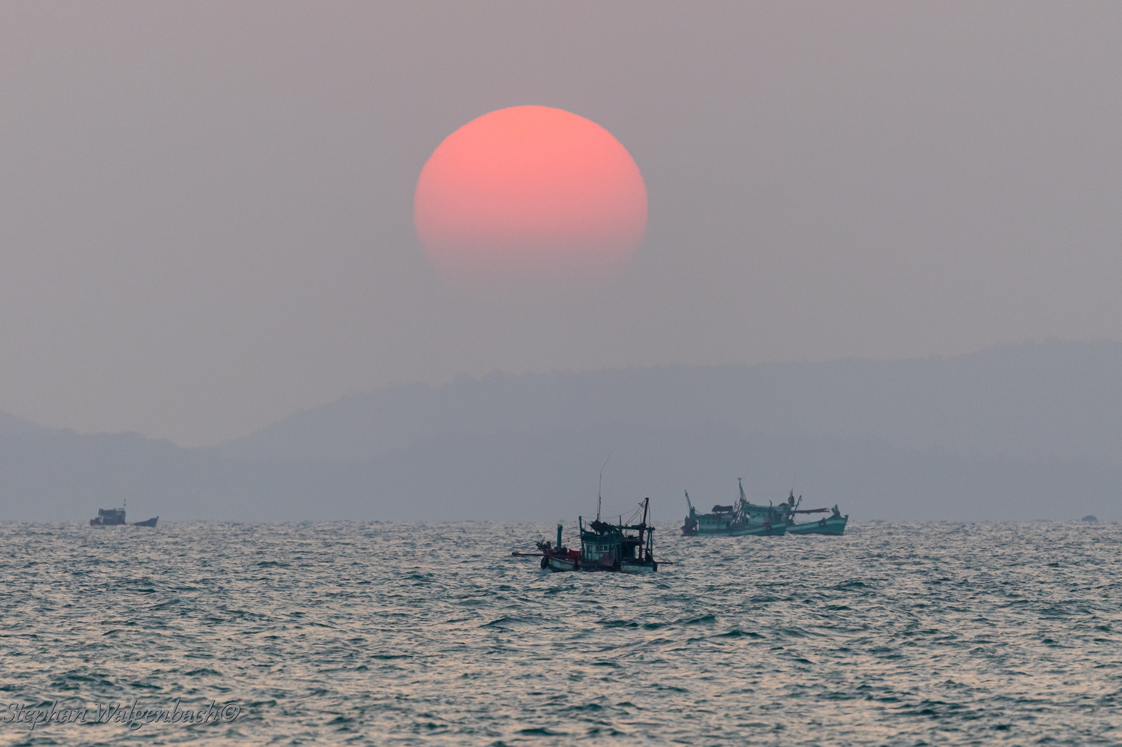
[{"label": "nearest fishing boat with dark teal cabin, below the sun", "polygon": [[[577,518],[580,529],[580,550],[562,544],[562,526],[558,524],[558,542],[539,542],[536,553],[511,553],[515,557],[541,557],[542,568],[551,571],[615,571],[617,573],[654,573],[659,562],[654,560],[654,527],[647,526],[646,516],[651,499],[644,498],[640,507],[643,518],[638,524],[601,522],[596,519],[585,524]],[[633,518],[638,517],[635,511]]]}]

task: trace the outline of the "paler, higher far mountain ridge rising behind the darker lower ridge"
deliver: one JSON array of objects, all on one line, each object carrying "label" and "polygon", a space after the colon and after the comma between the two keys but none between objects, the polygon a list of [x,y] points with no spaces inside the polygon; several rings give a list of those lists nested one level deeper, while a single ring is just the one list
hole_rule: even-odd
[{"label": "paler, higher far mountain ridge rising behind the darker lower ridge", "polygon": [[441,433],[609,423],[726,423],[772,436],[1122,464],[1122,343],[1028,343],[896,361],[460,377],[302,411],[219,453],[369,459]]}]

